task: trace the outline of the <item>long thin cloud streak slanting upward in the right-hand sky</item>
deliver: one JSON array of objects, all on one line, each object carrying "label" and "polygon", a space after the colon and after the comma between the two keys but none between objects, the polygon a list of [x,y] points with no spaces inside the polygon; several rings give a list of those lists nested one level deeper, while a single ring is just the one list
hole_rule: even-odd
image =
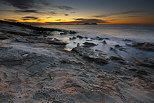
[{"label": "long thin cloud streak slanting upward in the right-hand sky", "polygon": [[119,13],[110,13],[110,14],[103,14],[103,15],[96,15],[93,17],[109,17],[109,16],[116,16],[116,15],[126,15],[126,14],[138,14],[138,13],[142,13],[142,11],[125,11],[125,12],[119,12]]}]

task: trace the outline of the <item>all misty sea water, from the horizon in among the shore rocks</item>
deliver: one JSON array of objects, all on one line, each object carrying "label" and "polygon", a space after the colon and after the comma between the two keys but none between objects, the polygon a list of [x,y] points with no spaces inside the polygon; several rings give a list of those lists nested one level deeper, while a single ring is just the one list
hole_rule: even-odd
[{"label": "all misty sea water, from the horizon in among the shore rocks", "polygon": [[[95,55],[103,53],[109,57],[121,57],[128,62],[154,58],[152,51],[143,51],[135,47],[128,46],[133,42],[153,42],[154,26],[152,25],[40,25],[46,28],[59,28],[77,31],[77,34],[60,35],[60,32],[52,32],[47,38],[59,39],[67,44],[63,48],[72,51],[77,46],[84,46],[84,43],[93,43],[95,46],[89,47]],[[82,36],[83,38],[78,38]],[[72,38],[75,39],[72,39]],[[103,38],[97,39],[98,37]],[[129,40],[125,40],[129,39]],[[104,43],[104,41],[106,43]],[[116,47],[116,46],[119,47]],[[114,48],[114,50],[111,50]],[[116,62],[110,62],[103,68],[110,70],[116,68]]]}]

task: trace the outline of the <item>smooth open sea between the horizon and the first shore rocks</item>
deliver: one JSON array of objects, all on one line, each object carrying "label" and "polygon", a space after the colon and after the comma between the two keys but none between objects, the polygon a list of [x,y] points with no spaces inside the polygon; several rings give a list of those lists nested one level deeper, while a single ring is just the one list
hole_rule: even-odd
[{"label": "smooth open sea between the horizon and the first shore rocks", "polygon": [[88,37],[113,37],[140,42],[154,42],[154,25],[39,25],[77,31]]}]

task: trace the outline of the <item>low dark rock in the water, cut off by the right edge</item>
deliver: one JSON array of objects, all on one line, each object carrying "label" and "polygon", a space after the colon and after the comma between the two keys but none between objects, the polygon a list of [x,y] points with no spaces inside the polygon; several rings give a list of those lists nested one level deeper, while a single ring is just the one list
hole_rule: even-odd
[{"label": "low dark rock in the water, cut off by the right edge", "polygon": [[153,43],[133,42],[132,44],[126,44],[126,45],[136,47],[138,49],[145,50],[145,51],[154,51],[154,44]]}]

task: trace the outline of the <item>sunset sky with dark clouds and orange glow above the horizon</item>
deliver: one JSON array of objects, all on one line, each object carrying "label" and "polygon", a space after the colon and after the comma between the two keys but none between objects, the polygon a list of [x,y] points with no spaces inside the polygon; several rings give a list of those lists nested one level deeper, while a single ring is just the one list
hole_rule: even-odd
[{"label": "sunset sky with dark clouds and orange glow above the horizon", "polygon": [[154,24],[154,0],[0,0],[0,20],[42,24]]}]

